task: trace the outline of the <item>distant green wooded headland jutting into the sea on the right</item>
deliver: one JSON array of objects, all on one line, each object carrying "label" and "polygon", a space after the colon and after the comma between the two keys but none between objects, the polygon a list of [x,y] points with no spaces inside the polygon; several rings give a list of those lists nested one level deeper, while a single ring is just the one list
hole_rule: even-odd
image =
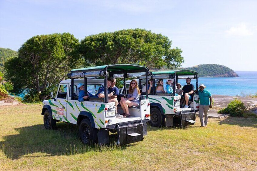
[{"label": "distant green wooded headland jutting into the sea on the right", "polygon": [[202,64],[178,69],[196,71],[200,77],[238,77],[238,75],[229,67],[217,64]]}]

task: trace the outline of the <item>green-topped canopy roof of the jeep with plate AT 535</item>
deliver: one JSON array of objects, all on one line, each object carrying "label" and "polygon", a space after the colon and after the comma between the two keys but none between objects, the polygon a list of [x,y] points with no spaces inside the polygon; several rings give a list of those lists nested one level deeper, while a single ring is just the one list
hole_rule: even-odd
[{"label": "green-topped canopy roof of the jeep with plate AT 535", "polygon": [[67,76],[69,78],[96,78],[105,77],[108,73],[111,77],[116,78],[124,77],[124,74],[127,74],[127,77],[140,77],[146,73],[148,76],[151,76],[151,73],[149,73],[149,69],[147,67],[133,64],[111,64],[97,67],[73,69],[70,71],[70,73],[67,74]]}]

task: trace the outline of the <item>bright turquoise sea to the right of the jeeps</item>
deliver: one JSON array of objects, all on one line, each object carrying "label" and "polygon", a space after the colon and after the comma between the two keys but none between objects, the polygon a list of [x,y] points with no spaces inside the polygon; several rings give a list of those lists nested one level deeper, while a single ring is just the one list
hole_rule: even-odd
[{"label": "bright turquoise sea to the right of the jeeps", "polygon": [[[257,93],[257,71],[235,71],[239,77],[199,77],[198,85],[206,85],[206,89],[215,95],[247,96]],[[191,83],[195,85],[196,80]],[[185,80],[180,80],[185,85]]]}]

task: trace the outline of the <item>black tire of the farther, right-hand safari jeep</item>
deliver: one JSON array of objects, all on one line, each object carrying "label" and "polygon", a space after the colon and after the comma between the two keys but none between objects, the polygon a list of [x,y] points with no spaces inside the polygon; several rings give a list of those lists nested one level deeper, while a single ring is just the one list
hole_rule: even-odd
[{"label": "black tire of the farther, right-hand safari jeep", "polygon": [[150,125],[153,127],[161,127],[165,123],[165,116],[162,115],[159,109],[156,107],[151,108],[151,120]]}]

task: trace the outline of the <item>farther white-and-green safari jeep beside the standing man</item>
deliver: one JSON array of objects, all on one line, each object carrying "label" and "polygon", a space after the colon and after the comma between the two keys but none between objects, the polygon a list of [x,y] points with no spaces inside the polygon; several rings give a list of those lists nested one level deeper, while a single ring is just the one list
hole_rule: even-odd
[{"label": "farther white-and-green safari jeep beside the standing man", "polygon": [[[196,90],[198,88],[198,76],[197,72],[189,70],[181,71],[157,71],[152,72],[153,85],[157,85],[159,79],[163,79],[164,90],[165,90],[165,80],[172,79],[173,83],[178,83],[179,79],[185,79],[190,77],[191,79],[196,79]],[[145,78],[138,77],[137,81],[139,82],[139,88],[142,92],[142,87],[145,86]],[[126,86],[129,86],[130,81],[126,82]],[[151,126],[161,127],[161,126],[179,126],[185,127],[188,125],[195,124],[195,113],[199,109],[199,96],[198,91],[195,91],[193,98],[189,101],[189,108],[182,108],[181,96],[175,96],[176,85],[173,84],[173,94],[167,93],[156,93],[156,87],[153,86],[153,92],[148,95],[151,106],[151,120],[149,121]],[[147,85],[146,85],[147,87]],[[141,94],[146,94],[142,92]]]}]

